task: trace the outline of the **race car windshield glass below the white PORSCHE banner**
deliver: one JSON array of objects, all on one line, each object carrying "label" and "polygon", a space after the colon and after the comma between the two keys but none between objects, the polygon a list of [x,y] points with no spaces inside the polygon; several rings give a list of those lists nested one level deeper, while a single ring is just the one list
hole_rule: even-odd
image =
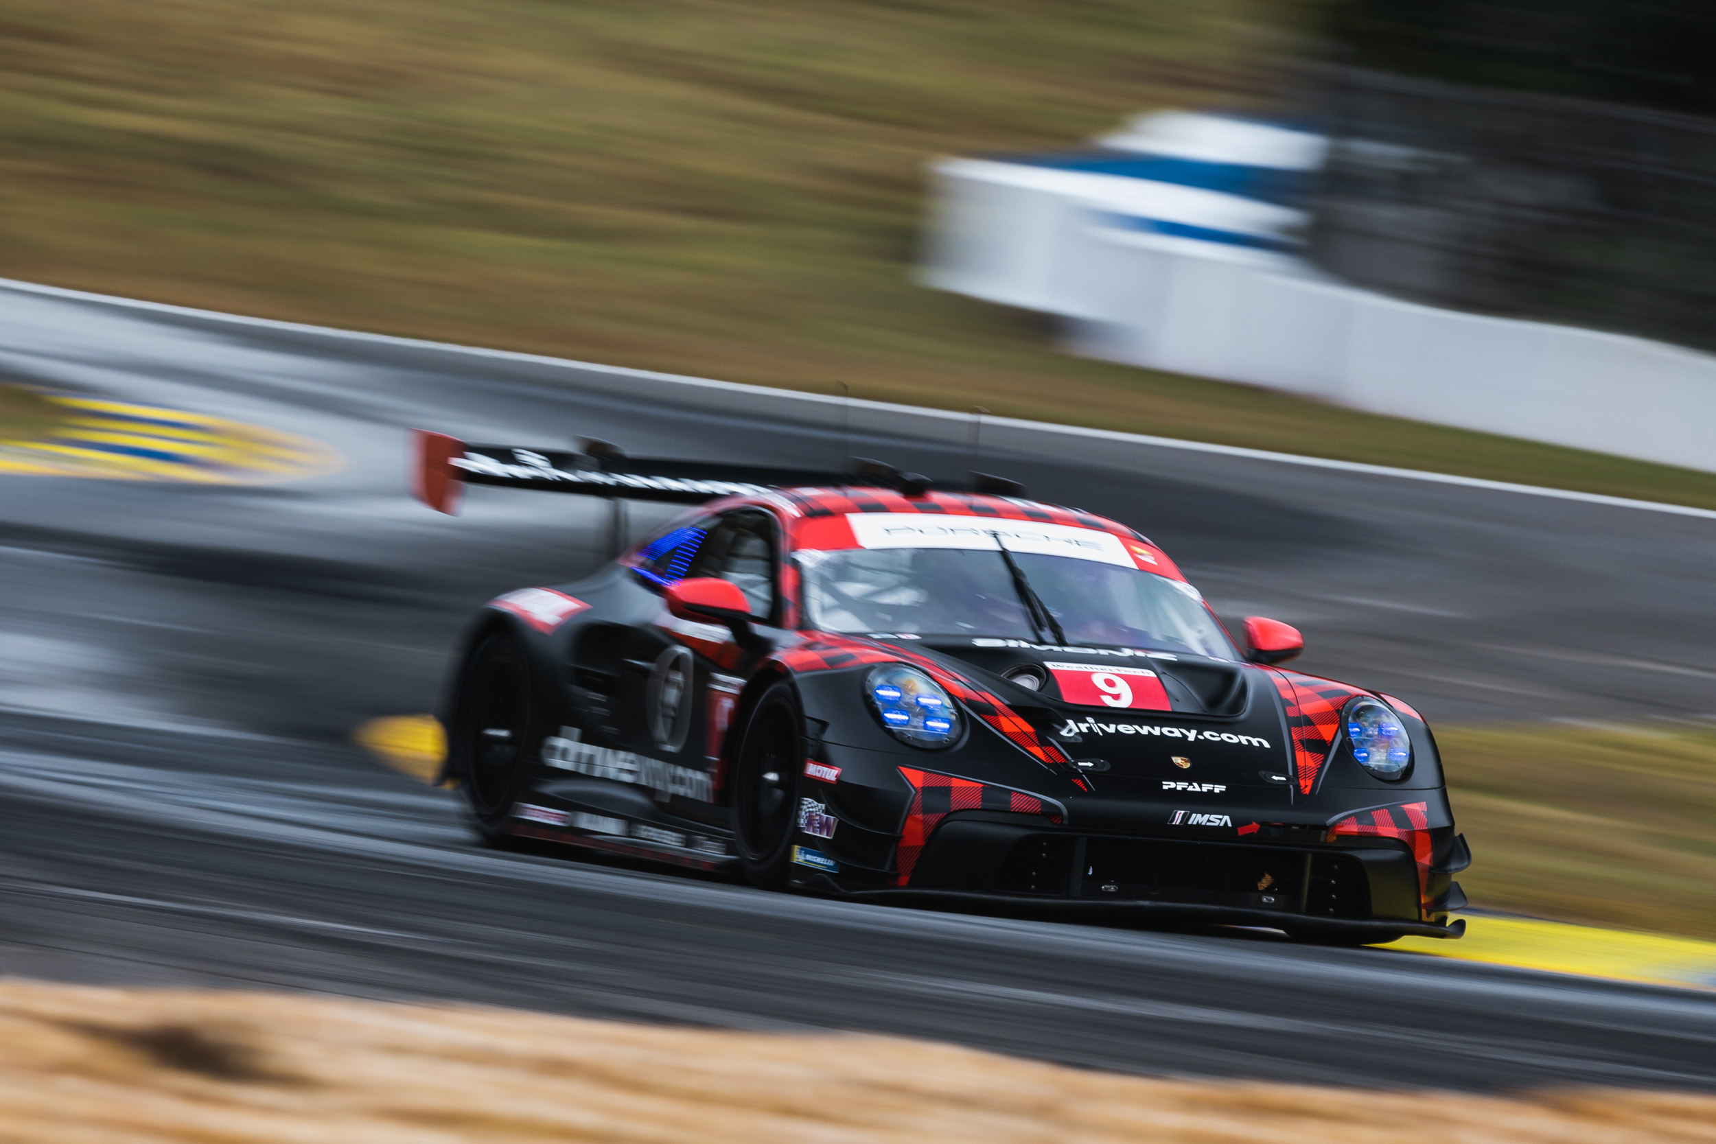
[{"label": "race car windshield glass below the white PORSCHE banner", "polygon": [[[1011,552],[1067,643],[1112,643],[1232,659],[1191,585],[1088,559]],[[1031,623],[995,549],[798,552],[812,628],[863,635],[1002,636],[1054,643]]]}]

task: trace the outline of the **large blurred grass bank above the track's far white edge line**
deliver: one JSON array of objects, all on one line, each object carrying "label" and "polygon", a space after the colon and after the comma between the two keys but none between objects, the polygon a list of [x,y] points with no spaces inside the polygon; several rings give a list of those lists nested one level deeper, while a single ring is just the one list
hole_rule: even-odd
[{"label": "large blurred grass bank above the track's far white edge line", "polygon": [[0,274],[1716,506],[1716,475],[1083,362],[913,285],[923,168],[1266,106],[1301,0],[9,0]]}]

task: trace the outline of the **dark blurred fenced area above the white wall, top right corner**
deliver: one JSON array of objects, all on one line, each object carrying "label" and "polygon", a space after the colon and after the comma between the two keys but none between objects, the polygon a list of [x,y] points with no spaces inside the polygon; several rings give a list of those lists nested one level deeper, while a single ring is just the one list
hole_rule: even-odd
[{"label": "dark blurred fenced area above the white wall, top right corner", "polygon": [[1320,266],[1716,348],[1716,5],[1347,0],[1328,31]]}]

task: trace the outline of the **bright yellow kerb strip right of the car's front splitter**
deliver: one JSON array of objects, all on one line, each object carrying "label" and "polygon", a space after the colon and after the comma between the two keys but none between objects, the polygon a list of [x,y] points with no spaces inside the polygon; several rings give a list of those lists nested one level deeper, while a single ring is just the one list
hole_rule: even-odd
[{"label": "bright yellow kerb strip right of the car's front splitter", "polygon": [[1580,978],[1716,988],[1716,942],[1536,918],[1467,918],[1464,938],[1400,938],[1380,948]]}]

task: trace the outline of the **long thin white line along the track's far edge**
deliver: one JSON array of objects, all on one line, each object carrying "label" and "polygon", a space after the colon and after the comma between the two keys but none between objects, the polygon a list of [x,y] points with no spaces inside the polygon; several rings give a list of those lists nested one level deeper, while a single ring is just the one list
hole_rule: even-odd
[{"label": "long thin white line along the track's far edge", "polygon": [[[118,298],[105,293],[89,293],[86,290],[67,290],[63,286],[43,286],[33,281],[17,281],[10,278],[0,278],[0,290],[12,290],[17,293],[38,293],[57,298],[72,298],[77,302],[94,302],[101,305],[112,305],[118,309],[136,309],[151,310],[158,314],[180,314],[187,317],[199,317],[204,321],[232,322],[233,326],[252,326],[257,329],[283,329],[300,334],[316,334],[321,338],[345,338],[352,341],[367,341],[372,345],[396,345],[414,350],[439,350],[443,353],[463,353],[470,357],[506,360],[506,362],[530,362],[534,365],[556,365],[563,369],[580,369],[594,370],[601,374],[611,374],[616,377],[649,377],[652,381],[666,381],[673,384],[681,384],[686,388],[702,389],[721,389],[728,393],[745,393],[750,396],[769,396],[777,401],[807,401],[815,405],[846,405],[844,398],[836,398],[832,394],[820,393],[801,393],[798,389],[776,389],[770,386],[746,386],[736,381],[716,381],[712,377],[686,377],[683,374],[659,374],[649,369],[628,369],[625,365],[601,365],[597,362],[575,362],[570,358],[546,357],[541,353],[518,353],[515,350],[486,350],[482,346],[465,346],[450,341],[426,341],[422,338],[396,338],[393,334],[372,334],[360,329],[335,329],[331,326],[309,326],[304,322],[283,322],[271,317],[247,317],[244,314],[223,314],[220,310],[199,310],[185,305],[168,305],[165,302],[141,302],[137,298]],[[892,401],[865,401],[861,398],[853,398],[849,401],[853,408],[875,410],[880,413],[894,415],[913,415],[942,418],[949,422],[958,422],[961,425],[970,424],[970,413],[956,413],[949,410],[923,408],[918,405],[897,405]],[[1297,453],[1272,453],[1268,449],[1246,449],[1236,444],[1210,444],[1205,441],[1181,441],[1175,437],[1150,437],[1134,432],[1114,432],[1110,429],[1085,429],[1081,425],[1054,425],[1048,422],[1021,420],[1014,417],[987,417],[988,425],[1004,425],[1009,429],[1042,432],[1042,434],[1062,434],[1069,437],[1095,437],[1100,441],[1117,441],[1122,444],[1138,444],[1155,449],[1182,449],[1187,453],[1215,453],[1218,456],[1236,456],[1251,461],[1273,461],[1277,465],[1302,465],[1308,468],[1332,468],[1345,473],[1364,473],[1369,477],[1395,477],[1400,480],[1421,480],[1428,484],[1440,485],[1459,485],[1464,489],[1488,489],[1493,492],[1517,492],[1522,496],[1553,497],[1556,501],[1582,501],[1586,504],[1608,504],[1611,508],[1632,508],[1644,509],[1647,513],[1668,513],[1673,516],[1699,516],[1704,520],[1716,520],[1716,509],[1692,508],[1689,504],[1663,504],[1661,501],[1635,501],[1632,497],[1604,496],[1601,492],[1575,492],[1572,489],[1546,489],[1543,485],[1522,485],[1508,480],[1484,480],[1483,477],[1459,477],[1453,473],[1435,473],[1419,468],[1393,468],[1390,465],[1364,465],[1359,461],[1337,461],[1323,456],[1301,456]],[[1623,458],[1625,460],[1625,458]]]}]

